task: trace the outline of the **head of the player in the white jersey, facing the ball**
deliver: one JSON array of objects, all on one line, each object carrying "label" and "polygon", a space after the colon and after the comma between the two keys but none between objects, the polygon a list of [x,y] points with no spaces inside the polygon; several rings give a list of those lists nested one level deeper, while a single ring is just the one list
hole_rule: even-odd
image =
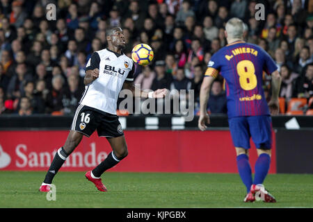
[{"label": "head of the player in the white jersey, facing the ball", "polygon": [[106,41],[108,45],[118,47],[122,49],[125,47],[125,36],[123,34],[122,28],[120,27],[109,27],[106,28]]}]

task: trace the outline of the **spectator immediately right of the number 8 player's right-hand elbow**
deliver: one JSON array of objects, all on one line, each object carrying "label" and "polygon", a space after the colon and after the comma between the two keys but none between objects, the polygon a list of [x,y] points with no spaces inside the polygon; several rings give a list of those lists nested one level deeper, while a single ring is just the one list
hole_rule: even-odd
[{"label": "spectator immediately right of the number 8 player's right-hand elbow", "polygon": [[294,73],[287,65],[283,64],[280,67],[280,74],[282,76],[282,85],[280,86],[280,97],[287,101],[293,97],[294,87],[298,74]]}]

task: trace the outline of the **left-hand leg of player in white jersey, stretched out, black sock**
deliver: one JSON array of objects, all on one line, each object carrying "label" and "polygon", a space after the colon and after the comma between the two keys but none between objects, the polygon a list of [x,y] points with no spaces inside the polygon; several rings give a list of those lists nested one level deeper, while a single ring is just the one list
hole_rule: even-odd
[{"label": "left-hand leg of player in white jersey, stretched out, black sock", "polygon": [[74,151],[74,149],[79,145],[83,134],[77,131],[70,131],[65,141],[64,146],[58,149],[56,155],[54,155],[54,160],[52,160],[49,170],[45,176],[44,184],[51,185],[54,176],[61,169],[67,157]]}]

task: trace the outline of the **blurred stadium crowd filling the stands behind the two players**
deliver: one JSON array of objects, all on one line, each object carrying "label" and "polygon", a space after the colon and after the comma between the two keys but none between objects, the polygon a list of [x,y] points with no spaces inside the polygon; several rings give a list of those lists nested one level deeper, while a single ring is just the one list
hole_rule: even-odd
[{"label": "blurred stadium crowd filling the stands behind the two players", "polygon": [[[46,18],[48,3],[56,5],[56,21]],[[255,19],[257,3],[265,6],[264,21]],[[224,26],[231,17],[243,19],[246,41],[275,60],[284,103],[304,98],[311,105],[312,13],[310,0],[1,0],[0,114],[73,114],[86,62],[106,47],[108,26],[123,28],[127,56],[139,43],[154,50],[151,65],[136,66],[135,83],[142,89],[194,89],[196,112],[202,76],[211,56],[227,44]],[[269,99],[271,76],[264,76],[264,89]],[[226,112],[221,78],[211,88],[208,109]]]}]

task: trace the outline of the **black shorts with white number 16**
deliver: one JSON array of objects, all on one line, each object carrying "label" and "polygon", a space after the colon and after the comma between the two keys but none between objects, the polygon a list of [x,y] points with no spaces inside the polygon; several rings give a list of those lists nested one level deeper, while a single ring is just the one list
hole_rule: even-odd
[{"label": "black shorts with white number 16", "polygon": [[96,129],[99,137],[124,135],[117,115],[80,104],[75,112],[71,130],[90,137]]}]

